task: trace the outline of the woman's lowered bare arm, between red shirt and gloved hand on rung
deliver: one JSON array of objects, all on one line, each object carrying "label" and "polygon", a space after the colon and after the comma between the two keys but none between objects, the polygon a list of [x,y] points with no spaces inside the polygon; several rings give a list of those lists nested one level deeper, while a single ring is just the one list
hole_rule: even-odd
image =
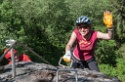
[{"label": "woman's lowered bare arm, between red shirt and gloved hand on rung", "polygon": [[66,44],[65,51],[71,50],[72,45],[74,44],[75,40],[76,40],[76,34],[72,32],[70,39],[68,43]]}]

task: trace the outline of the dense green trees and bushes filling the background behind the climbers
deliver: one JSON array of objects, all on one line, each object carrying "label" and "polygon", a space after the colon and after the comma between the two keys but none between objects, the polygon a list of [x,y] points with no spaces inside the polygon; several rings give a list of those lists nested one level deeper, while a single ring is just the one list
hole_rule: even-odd
[{"label": "dense green trees and bushes filling the background behind the climbers", "polygon": [[[86,15],[91,18],[93,29],[107,32],[102,17],[105,10],[110,10],[114,37],[99,40],[95,55],[102,72],[125,82],[124,6],[124,0],[0,0],[0,54],[6,48],[5,40],[12,38],[58,65],[76,18]],[[15,48],[35,62],[44,62],[20,45]]]}]

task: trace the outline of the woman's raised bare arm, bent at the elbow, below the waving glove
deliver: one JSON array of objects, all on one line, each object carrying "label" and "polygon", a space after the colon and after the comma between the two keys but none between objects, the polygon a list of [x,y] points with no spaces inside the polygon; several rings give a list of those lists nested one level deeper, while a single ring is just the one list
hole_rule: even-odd
[{"label": "woman's raised bare arm, bent at the elbow, below the waving glove", "polygon": [[108,33],[98,32],[97,38],[109,40],[112,39],[112,35],[113,35],[113,29],[108,29]]}]

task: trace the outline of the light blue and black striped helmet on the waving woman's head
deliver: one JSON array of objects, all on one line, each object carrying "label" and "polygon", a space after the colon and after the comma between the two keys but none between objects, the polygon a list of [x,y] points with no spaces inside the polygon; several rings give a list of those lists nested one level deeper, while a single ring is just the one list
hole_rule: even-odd
[{"label": "light blue and black striped helmet on the waving woman's head", "polygon": [[79,26],[81,24],[91,25],[91,21],[87,16],[80,16],[76,20],[76,25]]}]

